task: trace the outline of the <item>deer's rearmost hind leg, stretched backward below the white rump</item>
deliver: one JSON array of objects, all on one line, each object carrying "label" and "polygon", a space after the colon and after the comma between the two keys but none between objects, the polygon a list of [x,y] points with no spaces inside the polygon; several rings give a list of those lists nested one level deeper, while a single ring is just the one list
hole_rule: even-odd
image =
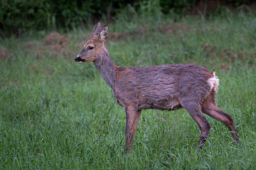
[{"label": "deer's rearmost hind leg, stretched backward below the white rump", "polygon": [[208,114],[214,119],[225,124],[225,126],[227,126],[228,129],[231,131],[233,139],[237,143],[240,143],[239,136],[237,134],[237,129],[235,128],[235,124],[232,116],[223,112],[216,105],[214,105],[213,102],[209,102],[209,100],[205,101],[204,104],[202,105],[202,112],[204,112],[205,114]]}]

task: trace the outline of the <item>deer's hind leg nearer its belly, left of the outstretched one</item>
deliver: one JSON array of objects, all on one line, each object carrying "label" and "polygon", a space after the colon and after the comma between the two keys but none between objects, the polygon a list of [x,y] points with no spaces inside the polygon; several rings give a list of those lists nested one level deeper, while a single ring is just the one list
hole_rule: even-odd
[{"label": "deer's hind leg nearer its belly, left of the outstretched one", "polygon": [[199,140],[199,149],[202,149],[204,147],[204,143],[206,142],[206,139],[210,132],[211,125],[206,120],[199,105],[195,103],[191,103],[190,101],[189,102],[181,101],[181,105],[187,110],[187,112],[190,114],[190,116],[194,119],[194,121],[197,123],[197,125],[200,128],[201,136]]}]

